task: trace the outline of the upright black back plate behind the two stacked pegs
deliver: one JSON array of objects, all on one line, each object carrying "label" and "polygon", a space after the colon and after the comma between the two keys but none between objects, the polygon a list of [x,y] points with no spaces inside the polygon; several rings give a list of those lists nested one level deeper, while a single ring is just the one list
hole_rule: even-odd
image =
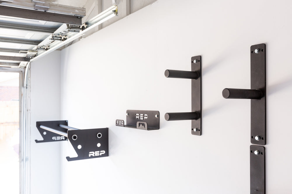
[{"label": "upright black back plate behind the two stacked pegs", "polygon": [[[197,60],[197,63],[194,63]],[[191,58],[192,71],[200,74],[198,79],[192,79],[192,112],[200,114],[200,118],[192,120],[192,135],[200,136],[202,134],[202,58],[201,56],[194,56]],[[194,131],[197,129],[197,131]]]}]

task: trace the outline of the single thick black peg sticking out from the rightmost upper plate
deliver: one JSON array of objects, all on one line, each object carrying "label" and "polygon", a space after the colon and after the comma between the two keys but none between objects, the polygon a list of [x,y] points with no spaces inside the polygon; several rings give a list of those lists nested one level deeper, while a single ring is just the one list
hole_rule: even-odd
[{"label": "single thick black peg sticking out from the rightmost upper plate", "polygon": [[260,99],[263,93],[260,90],[225,88],[222,96],[231,99]]}]

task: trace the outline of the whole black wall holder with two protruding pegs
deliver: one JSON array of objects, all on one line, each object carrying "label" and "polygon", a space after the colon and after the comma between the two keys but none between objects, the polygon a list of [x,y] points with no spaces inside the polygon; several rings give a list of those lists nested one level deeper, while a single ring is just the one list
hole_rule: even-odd
[{"label": "whole black wall holder with two protruding pegs", "polygon": [[202,59],[201,56],[191,58],[192,71],[166,70],[164,75],[168,78],[192,79],[192,112],[166,113],[165,120],[192,120],[192,135],[202,134]]}]

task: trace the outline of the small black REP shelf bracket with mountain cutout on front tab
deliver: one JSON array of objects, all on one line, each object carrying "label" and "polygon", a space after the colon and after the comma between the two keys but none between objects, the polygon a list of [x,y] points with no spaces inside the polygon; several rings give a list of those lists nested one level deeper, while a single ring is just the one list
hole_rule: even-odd
[{"label": "small black REP shelf bracket with mountain cutout on front tab", "polygon": [[143,130],[159,129],[159,111],[127,110],[126,125],[124,120],[116,120],[116,126]]}]

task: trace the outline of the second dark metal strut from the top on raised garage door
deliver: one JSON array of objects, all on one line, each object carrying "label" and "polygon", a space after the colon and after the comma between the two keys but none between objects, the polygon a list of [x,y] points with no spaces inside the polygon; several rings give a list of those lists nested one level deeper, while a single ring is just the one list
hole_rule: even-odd
[{"label": "second dark metal strut from the top on raised garage door", "polygon": [[48,35],[51,35],[56,30],[53,28],[45,28],[45,27],[23,25],[23,24],[10,24],[7,22],[0,22],[0,28],[26,31],[26,32],[32,32],[32,33],[48,34]]}]

